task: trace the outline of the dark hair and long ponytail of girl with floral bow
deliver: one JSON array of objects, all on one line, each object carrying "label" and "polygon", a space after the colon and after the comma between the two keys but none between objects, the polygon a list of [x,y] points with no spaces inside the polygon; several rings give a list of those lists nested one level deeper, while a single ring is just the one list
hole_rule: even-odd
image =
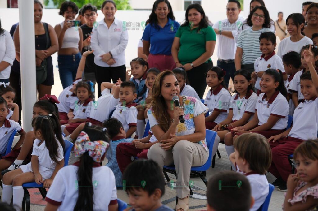
[{"label": "dark hair and long ponytail of girl with floral bow", "polygon": [[[106,141],[109,142],[109,138],[103,129],[99,126],[89,126],[87,123],[83,129],[87,133],[91,141]],[[104,155],[105,156],[105,155]],[[104,157],[103,156],[103,157]],[[93,188],[93,159],[89,156],[88,152],[85,152],[80,157],[80,164],[77,170],[77,181],[79,194],[74,207],[74,211],[86,211],[93,210],[94,201],[94,188]]]}]

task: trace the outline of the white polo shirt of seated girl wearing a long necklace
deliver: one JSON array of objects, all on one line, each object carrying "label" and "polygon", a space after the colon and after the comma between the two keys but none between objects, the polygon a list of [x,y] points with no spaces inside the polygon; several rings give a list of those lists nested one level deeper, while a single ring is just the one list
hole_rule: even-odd
[{"label": "white polo shirt of seated girl wearing a long necklace", "polygon": [[248,120],[250,121],[255,113],[257,98],[257,94],[254,93],[252,90],[250,90],[243,99],[239,97],[239,93],[233,95],[230,101],[230,110],[233,111],[232,121],[240,120],[243,117],[244,113],[252,114],[252,116]]}]

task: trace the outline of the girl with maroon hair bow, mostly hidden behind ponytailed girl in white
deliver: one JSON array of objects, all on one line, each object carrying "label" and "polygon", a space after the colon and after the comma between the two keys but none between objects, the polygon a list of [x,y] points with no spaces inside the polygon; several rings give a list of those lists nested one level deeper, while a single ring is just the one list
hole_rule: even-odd
[{"label": "girl with maroon hair bow, mostly hidden behind ponytailed girl in white", "polygon": [[[36,118],[41,115],[49,115],[55,113],[57,116],[59,115],[59,110],[56,104],[58,104],[59,101],[57,100],[55,95],[48,95],[45,94],[45,96],[41,99],[39,99],[34,105],[33,105],[33,118]],[[60,128],[60,126],[59,126]],[[55,133],[58,133],[58,130],[55,130]],[[22,147],[16,148],[14,147],[13,150],[6,156],[1,157],[0,159],[0,170],[2,176],[13,169],[17,169],[19,165],[30,163],[31,162],[31,154],[32,154],[32,148],[33,143],[36,137],[34,136],[33,131],[29,131],[25,134],[24,139],[21,139],[23,141]],[[19,142],[18,142],[19,143]],[[20,142],[20,145],[22,143]]]}]

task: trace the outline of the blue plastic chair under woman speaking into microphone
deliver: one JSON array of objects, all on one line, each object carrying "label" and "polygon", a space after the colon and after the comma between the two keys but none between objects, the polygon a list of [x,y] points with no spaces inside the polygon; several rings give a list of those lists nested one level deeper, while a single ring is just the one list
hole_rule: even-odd
[{"label": "blue plastic chair under woman speaking into microphone", "polygon": [[[202,175],[201,171],[206,171],[206,170],[208,170],[210,168],[211,159],[212,159],[212,148],[213,148],[214,139],[215,139],[216,135],[217,135],[217,132],[215,132],[215,131],[205,130],[206,144],[208,145],[208,149],[209,149],[208,160],[202,166],[191,167],[191,173],[199,176],[206,186],[208,184],[208,181]],[[169,177],[168,177],[166,172],[169,172],[169,173],[174,174],[176,176],[175,166],[174,165],[172,165],[172,166],[163,166],[163,173],[164,173],[167,181],[169,182],[170,179],[169,179]],[[191,188],[190,188],[190,194],[191,195],[193,194]]]}]

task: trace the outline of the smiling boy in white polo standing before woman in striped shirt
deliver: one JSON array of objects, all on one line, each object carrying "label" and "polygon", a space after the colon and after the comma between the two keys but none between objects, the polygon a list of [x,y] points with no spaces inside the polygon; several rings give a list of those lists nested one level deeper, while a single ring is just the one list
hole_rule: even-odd
[{"label": "smiling boy in white polo standing before woman in striped shirt", "polygon": [[263,53],[254,62],[255,72],[252,72],[252,78],[257,79],[255,82],[255,88],[257,89],[257,95],[261,92],[260,90],[260,79],[265,70],[267,69],[280,69],[283,73],[283,79],[287,80],[287,75],[284,70],[282,59],[275,54],[276,47],[276,35],[271,32],[263,32],[259,36],[259,50]]}]

